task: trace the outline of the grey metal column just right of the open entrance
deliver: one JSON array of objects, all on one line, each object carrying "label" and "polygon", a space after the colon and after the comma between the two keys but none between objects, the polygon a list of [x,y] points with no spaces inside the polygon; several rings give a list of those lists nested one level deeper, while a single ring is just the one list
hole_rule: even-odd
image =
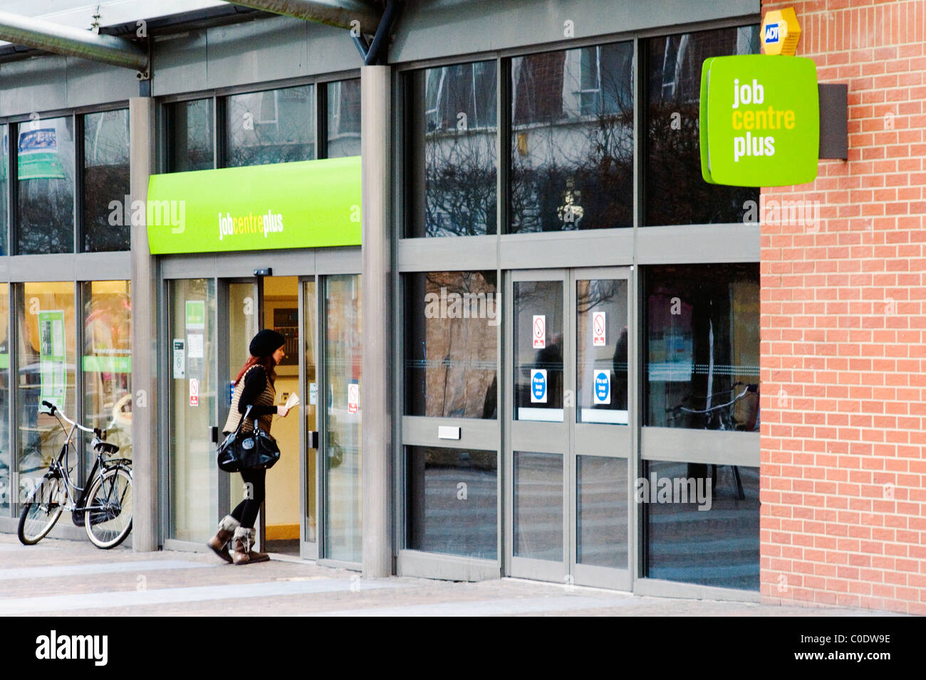
[{"label": "grey metal column just right of the open entrance", "polygon": [[391,507],[392,362],[390,234],[392,69],[360,68],[362,170],[362,391],[360,395],[363,575],[393,574]]}]

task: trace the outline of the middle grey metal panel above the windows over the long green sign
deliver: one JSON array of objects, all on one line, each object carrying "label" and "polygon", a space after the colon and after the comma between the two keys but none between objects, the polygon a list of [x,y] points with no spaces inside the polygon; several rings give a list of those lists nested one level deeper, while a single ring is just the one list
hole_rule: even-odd
[{"label": "middle grey metal panel above the windows over the long green sign", "polygon": [[[274,17],[209,29],[208,87],[306,75],[306,26],[298,19]],[[348,43],[349,36],[338,32]]]}]

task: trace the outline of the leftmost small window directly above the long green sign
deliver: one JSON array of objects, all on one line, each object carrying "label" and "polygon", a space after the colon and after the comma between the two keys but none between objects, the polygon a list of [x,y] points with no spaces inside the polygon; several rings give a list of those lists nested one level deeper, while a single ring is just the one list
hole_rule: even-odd
[{"label": "leftmost small window directly above the long green sign", "polygon": [[169,172],[215,166],[212,108],[211,98],[167,105]]}]

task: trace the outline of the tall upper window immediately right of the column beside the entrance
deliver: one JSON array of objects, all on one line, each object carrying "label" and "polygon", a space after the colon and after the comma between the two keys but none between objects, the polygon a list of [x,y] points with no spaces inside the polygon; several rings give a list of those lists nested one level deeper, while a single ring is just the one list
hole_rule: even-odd
[{"label": "tall upper window immediately right of the column beside the entrance", "polygon": [[494,61],[425,68],[407,79],[407,236],[496,232]]}]

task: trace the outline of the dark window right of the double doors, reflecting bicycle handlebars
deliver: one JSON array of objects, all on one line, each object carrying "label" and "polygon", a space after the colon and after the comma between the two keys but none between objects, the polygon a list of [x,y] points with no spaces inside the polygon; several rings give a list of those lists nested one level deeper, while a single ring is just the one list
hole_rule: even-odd
[{"label": "dark window right of the double doors, reflecting bicycle handlebars", "polygon": [[758,265],[645,271],[648,426],[757,432]]}]

